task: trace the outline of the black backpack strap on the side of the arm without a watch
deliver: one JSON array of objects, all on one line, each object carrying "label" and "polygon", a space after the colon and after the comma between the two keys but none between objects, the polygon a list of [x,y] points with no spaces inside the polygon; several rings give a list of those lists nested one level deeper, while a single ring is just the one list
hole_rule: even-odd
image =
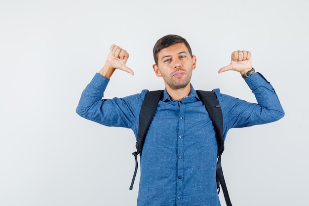
[{"label": "black backpack strap on the side of the arm without a watch", "polygon": [[140,116],[139,116],[139,122],[138,122],[138,133],[137,133],[137,139],[136,139],[136,149],[137,151],[132,153],[135,157],[135,170],[132,178],[132,182],[130,185],[130,190],[133,189],[133,184],[135,181],[138,163],[137,163],[137,156],[138,154],[142,155],[143,145],[145,142],[145,137],[149,128],[149,125],[151,121],[153,120],[154,111],[156,110],[156,106],[158,102],[160,101],[161,97],[163,95],[163,90],[157,90],[157,91],[149,91],[145,95],[145,99],[143,101]]}]

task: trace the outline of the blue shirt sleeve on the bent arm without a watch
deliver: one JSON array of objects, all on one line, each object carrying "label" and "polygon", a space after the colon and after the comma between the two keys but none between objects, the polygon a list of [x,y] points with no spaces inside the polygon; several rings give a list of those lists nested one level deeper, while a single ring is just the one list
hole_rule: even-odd
[{"label": "blue shirt sleeve on the bent arm without a watch", "polygon": [[148,90],[123,98],[104,99],[109,81],[98,73],[93,77],[81,94],[77,114],[106,126],[136,127],[141,104]]}]

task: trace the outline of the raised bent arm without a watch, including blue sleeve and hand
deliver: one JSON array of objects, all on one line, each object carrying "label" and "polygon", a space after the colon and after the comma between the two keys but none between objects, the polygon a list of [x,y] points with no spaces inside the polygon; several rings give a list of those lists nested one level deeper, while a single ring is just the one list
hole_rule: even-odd
[{"label": "raised bent arm without a watch, including blue sleeve and hand", "polygon": [[95,74],[91,82],[83,90],[76,112],[79,116],[108,126],[131,128],[137,121],[137,113],[145,92],[123,98],[106,99],[104,91],[116,69],[133,75],[133,71],[125,64],[129,53],[113,44],[103,68]]}]

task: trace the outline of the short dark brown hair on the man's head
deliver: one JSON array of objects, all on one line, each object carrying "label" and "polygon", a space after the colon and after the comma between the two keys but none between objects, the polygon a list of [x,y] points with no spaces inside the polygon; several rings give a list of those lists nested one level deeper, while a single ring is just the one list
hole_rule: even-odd
[{"label": "short dark brown hair on the man's head", "polygon": [[185,38],[182,38],[178,35],[166,35],[164,37],[162,37],[161,39],[159,39],[158,41],[156,41],[156,43],[154,44],[154,62],[155,64],[158,64],[158,53],[166,47],[169,47],[171,45],[174,45],[176,43],[185,43],[185,45],[187,46],[189,53],[192,55],[192,50],[191,47],[188,43],[188,41]]}]

